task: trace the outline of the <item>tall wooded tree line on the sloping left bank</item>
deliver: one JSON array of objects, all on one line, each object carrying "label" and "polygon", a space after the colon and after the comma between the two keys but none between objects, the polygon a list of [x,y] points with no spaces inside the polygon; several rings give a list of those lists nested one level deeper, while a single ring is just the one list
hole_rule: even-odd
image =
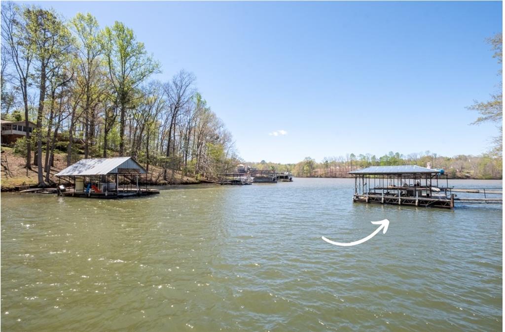
[{"label": "tall wooded tree line on the sloping left bank", "polygon": [[[183,175],[213,177],[237,159],[231,134],[184,70],[152,79],[161,65],[132,29],[100,28],[91,14],[65,19],[53,9],[2,4],[2,117],[36,123],[26,131],[26,168],[50,182],[55,149],[131,155]],[[33,150],[33,159],[32,159]],[[45,151],[45,158],[42,154]]]}]

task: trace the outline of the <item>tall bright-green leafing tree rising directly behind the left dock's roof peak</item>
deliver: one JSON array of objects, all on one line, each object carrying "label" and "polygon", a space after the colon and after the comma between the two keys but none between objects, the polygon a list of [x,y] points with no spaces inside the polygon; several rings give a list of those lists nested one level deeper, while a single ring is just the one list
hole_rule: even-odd
[{"label": "tall bright-green leafing tree rising directly behind the left dock's roof peak", "polygon": [[122,156],[125,153],[126,112],[133,91],[151,74],[158,73],[160,64],[147,55],[144,44],[136,40],[133,30],[118,21],[105,28],[102,47],[119,106],[119,154]]}]

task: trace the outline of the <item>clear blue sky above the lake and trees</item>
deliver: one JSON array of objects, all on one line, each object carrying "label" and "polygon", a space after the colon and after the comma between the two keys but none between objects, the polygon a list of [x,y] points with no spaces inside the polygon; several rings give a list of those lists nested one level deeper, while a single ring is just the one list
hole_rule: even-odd
[{"label": "clear blue sky above the lake and trees", "polygon": [[[500,80],[501,2],[44,2],[131,27],[185,69],[246,161],[487,150],[465,107]],[[277,133],[277,134],[275,134]]]}]

